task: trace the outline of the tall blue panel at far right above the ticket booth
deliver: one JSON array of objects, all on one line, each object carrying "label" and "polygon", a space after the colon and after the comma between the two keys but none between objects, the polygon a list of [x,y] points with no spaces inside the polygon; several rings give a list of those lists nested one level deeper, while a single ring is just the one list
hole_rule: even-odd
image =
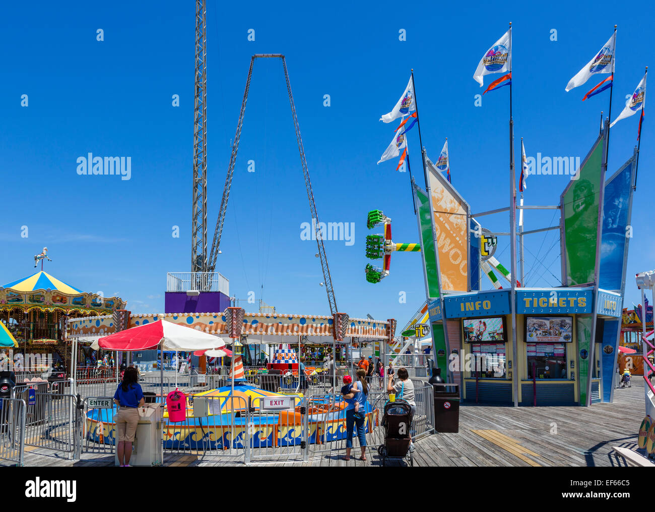
[{"label": "tall blue panel at far right above the ticket booth", "polygon": [[630,217],[634,161],[634,157],[629,159],[605,182],[599,279],[599,286],[605,290],[622,289],[624,258],[627,257],[631,235],[626,230]]}]

